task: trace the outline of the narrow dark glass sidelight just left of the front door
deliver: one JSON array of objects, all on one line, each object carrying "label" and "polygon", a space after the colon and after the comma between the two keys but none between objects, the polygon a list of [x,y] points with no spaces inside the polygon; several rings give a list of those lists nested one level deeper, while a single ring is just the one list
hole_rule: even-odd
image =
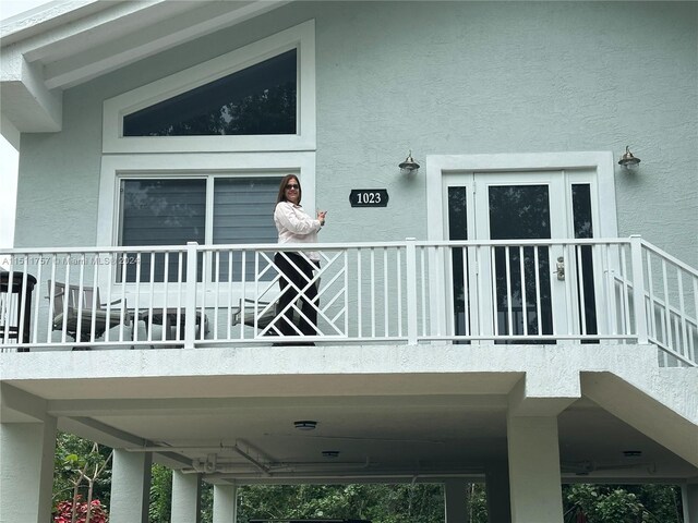
[{"label": "narrow dark glass sidelight just left of the front door", "polygon": [[[448,239],[468,240],[467,188],[448,187]],[[469,332],[470,296],[466,290],[470,289],[466,268],[468,253],[462,247],[454,247],[452,253],[453,285],[454,285],[454,325],[456,336]],[[466,283],[468,285],[466,287]]]}]

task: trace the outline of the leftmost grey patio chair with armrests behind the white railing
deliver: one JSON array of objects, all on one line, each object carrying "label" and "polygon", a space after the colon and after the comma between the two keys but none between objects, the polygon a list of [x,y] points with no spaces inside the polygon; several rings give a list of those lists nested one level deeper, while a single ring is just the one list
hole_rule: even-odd
[{"label": "leftmost grey patio chair with armrests behind the white railing", "polygon": [[[80,287],[61,283],[52,283],[53,293],[53,330],[62,331],[71,336],[75,341],[94,341],[101,337],[107,329],[123,324],[131,326],[131,315],[127,311],[125,301],[116,300],[109,305],[109,313],[104,308],[105,304],[99,300],[99,288]],[[48,281],[49,292],[51,280]],[[82,292],[82,301],[81,301]],[[47,296],[50,300],[50,296]],[[93,308],[94,305],[94,308]],[[116,307],[112,307],[117,305]],[[77,308],[80,306],[80,308]],[[94,327],[95,336],[92,337]],[[79,350],[74,348],[73,350]],[[89,348],[86,348],[89,350]]]}]

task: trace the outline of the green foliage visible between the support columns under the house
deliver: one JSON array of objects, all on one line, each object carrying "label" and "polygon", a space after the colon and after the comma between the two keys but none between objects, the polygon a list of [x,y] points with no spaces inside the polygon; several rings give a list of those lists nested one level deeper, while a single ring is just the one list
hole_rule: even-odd
[{"label": "green foliage visible between the support columns under the house", "polygon": [[[55,464],[55,521],[83,523],[88,508],[91,523],[108,521],[111,449],[59,433]],[[466,523],[488,523],[484,485],[468,485],[464,496],[468,506]],[[154,464],[149,523],[169,523],[171,498],[171,470]],[[565,523],[683,523],[681,490],[671,485],[563,485],[563,504]],[[444,491],[440,484],[250,485],[239,488],[240,523],[248,523],[250,519],[278,518],[443,523]],[[213,486],[208,484],[202,486],[201,522],[213,522]]]}]

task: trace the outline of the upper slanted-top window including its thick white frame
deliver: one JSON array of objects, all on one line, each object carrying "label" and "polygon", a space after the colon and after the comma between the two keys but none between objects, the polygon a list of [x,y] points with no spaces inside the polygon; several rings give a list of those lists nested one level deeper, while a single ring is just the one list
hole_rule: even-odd
[{"label": "upper slanted-top window including its thick white frame", "polygon": [[105,154],[314,150],[308,21],[105,100]]}]

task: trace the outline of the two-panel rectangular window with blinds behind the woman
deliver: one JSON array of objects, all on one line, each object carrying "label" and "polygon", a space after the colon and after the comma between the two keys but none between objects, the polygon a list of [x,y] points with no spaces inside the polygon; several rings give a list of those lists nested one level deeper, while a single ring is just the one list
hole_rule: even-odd
[{"label": "two-panel rectangular window with blinds behind the woman", "polygon": [[[122,179],[119,244],[275,243],[273,212],[279,183],[277,175]],[[240,259],[228,256],[224,253],[217,259],[214,275],[240,281]],[[179,257],[164,253],[144,255],[137,266],[140,281],[177,281],[186,273],[183,259],[180,263]],[[200,263],[200,279],[201,267]],[[250,265],[246,278],[253,277]],[[136,280],[135,265],[128,267],[127,280]]]}]

